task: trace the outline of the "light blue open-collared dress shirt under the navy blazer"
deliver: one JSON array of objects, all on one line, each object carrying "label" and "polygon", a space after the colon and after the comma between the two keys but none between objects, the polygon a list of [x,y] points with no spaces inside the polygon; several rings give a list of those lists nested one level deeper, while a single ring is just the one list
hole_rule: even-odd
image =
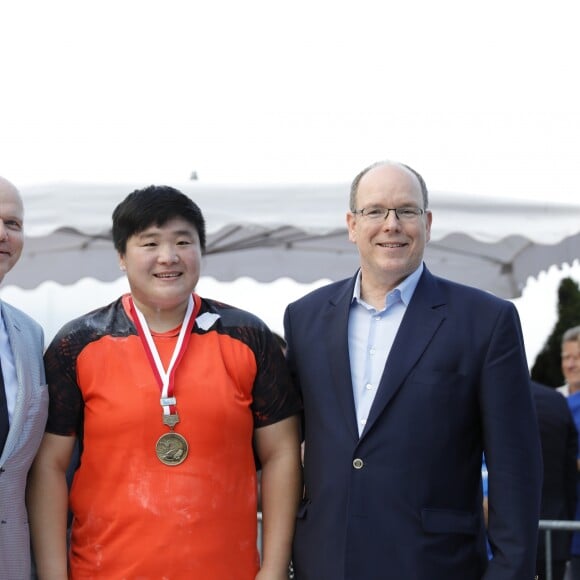
[{"label": "light blue open-collared dress shirt under the navy blazer", "polygon": [[365,428],[395,336],[422,273],[421,263],[387,294],[382,310],[361,299],[360,270],[357,275],[348,316],[348,352],[359,436]]}]

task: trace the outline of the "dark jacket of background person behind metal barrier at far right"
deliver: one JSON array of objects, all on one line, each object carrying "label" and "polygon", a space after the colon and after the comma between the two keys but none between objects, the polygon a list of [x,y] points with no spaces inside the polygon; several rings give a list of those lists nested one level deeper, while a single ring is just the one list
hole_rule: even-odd
[{"label": "dark jacket of background person behind metal barrier at far right", "polygon": [[[542,486],[542,520],[574,520],[576,514],[576,458],[578,433],[568,403],[560,393],[538,383],[532,383],[536,405],[544,483]],[[545,558],[544,532],[540,532],[538,558]],[[552,532],[552,558],[570,558],[569,532]]]}]

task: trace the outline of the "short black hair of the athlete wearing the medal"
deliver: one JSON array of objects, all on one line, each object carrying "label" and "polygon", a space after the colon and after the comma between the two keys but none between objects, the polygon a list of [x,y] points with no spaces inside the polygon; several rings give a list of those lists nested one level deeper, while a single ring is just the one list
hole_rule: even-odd
[{"label": "short black hair of the athlete wearing the medal", "polygon": [[187,195],[168,185],[150,185],[130,193],[113,211],[113,243],[125,254],[127,240],[152,225],[163,226],[169,220],[183,218],[199,236],[205,252],[205,220],[199,206]]}]

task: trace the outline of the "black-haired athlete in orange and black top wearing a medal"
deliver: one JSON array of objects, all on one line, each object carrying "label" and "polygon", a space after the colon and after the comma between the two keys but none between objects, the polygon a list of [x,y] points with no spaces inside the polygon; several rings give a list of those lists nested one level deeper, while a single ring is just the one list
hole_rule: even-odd
[{"label": "black-haired athlete in orange and black top wearing a medal", "polygon": [[287,578],[300,402],[279,346],[255,316],[193,294],[205,227],[187,196],[133,192],[113,237],[131,294],[65,325],[46,353],[49,420],[28,494],[40,578]]}]

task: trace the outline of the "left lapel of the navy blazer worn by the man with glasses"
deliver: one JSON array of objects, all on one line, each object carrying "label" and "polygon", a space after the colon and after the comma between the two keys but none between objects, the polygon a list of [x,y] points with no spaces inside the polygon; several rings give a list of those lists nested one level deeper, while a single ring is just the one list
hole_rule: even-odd
[{"label": "left lapel of the navy blazer worn by the man with glasses", "polygon": [[348,313],[352,302],[355,279],[356,277],[346,281],[330,298],[322,316],[323,327],[326,329],[323,340],[325,341],[327,364],[332,379],[330,386],[338,399],[348,429],[356,440],[358,439],[358,430],[348,352]]}]

